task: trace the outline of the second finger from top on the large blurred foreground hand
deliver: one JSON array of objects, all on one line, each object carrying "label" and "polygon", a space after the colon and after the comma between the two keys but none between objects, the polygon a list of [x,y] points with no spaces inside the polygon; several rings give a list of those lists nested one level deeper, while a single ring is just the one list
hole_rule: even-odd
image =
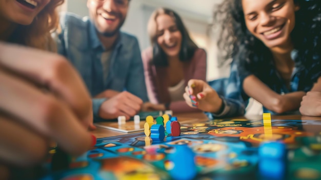
[{"label": "second finger from top on the large blurred foreground hand", "polygon": [[[0,109],[32,130],[54,138],[70,154],[79,155],[92,144],[70,107],[16,76],[0,71]],[[19,132],[19,131],[16,131]],[[36,146],[33,146],[33,148]]]}]

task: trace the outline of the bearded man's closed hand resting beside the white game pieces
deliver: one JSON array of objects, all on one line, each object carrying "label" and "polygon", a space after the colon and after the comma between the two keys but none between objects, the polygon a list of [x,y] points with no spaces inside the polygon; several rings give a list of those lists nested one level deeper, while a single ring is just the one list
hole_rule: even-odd
[{"label": "bearded man's closed hand resting beside the white game pieces", "polygon": [[143,105],[141,98],[127,92],[121,92],[105,101],[99,109],[99,116],[105,119],[114,119],[125,116],[126,121],[137,114]]}]

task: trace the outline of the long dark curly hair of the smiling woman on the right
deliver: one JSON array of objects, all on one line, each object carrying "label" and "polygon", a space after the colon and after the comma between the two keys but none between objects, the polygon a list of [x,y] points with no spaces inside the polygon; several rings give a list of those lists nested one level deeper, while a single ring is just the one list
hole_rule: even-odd
[{"label": "long dark curly hair of the smiling woman on the right", "polygon": [[[316,82],[321,73],[321,1],[293,0],[300,9],[295,12],[295,27],[291,32],[294,61],[303,66],[306,74]],[[258,78],[269,74],[272,54],[263,42],[247,29],[241,0],[225,0],[216,6],[212,26],[220,27],[218,48],[224,59],[233,58]],[[265,79],[267,82],[268,79]]]}]

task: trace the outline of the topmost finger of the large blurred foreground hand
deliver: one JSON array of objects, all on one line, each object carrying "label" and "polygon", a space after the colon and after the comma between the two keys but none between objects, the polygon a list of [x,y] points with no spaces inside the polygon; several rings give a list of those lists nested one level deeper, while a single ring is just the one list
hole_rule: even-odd
[{"label": "topmost finger of the large blurred foreground hand", "polygon": [[92,121],[90,95],[78,73],[64,57],[0,43],[0,66],[48,88],[64,99],[80,119]]}]

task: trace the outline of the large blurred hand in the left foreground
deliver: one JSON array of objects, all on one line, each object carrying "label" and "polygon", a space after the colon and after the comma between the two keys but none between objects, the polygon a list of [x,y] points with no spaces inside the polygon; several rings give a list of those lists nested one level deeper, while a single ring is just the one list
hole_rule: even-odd
[{"label": "large blurred hand in the left foreground", "polygon": [[0,162],[5,165],[42,161],[51,139],[72,155],[95,143],[87,132],[90,95],[62,56],[0,43],[0,99]]}]

